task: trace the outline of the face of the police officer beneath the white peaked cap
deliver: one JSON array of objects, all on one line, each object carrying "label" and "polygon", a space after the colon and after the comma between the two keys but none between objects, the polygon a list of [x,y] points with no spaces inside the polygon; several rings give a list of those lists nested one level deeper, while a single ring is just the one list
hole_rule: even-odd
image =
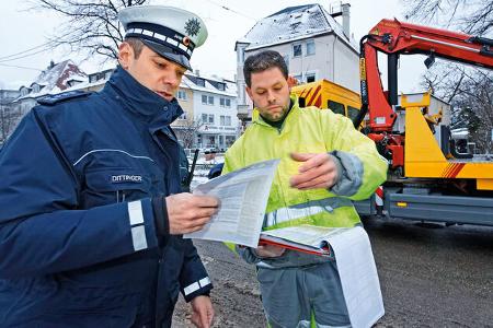
[{"label": "face of the police officer beneath the white peaked cap", "polygon": [[138,58],[126,43],[119,48],[119,63],[144,86],[152,90],[167,101],[173,99],[186,69],[167,60],[144,46]]}]

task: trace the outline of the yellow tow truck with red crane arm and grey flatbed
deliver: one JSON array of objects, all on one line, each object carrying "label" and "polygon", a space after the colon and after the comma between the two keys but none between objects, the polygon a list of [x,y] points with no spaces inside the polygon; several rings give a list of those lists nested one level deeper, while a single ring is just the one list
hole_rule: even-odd
[{"label": "yellow tow truck with red crane arm and grey flatbed", "polygon": [[[493,157],[458,151],[442,113],[429,115],[431,94],[398,95],[401,55],[435,58],[493,69],[493,39],[382,20],[360,40],[362,108],[355,127],[372,139],[389,161],[388,180],[372,201],[357,204],[362,214],[380,214],[447,224],[493,225]],[[387,55],[388,91],[378,56]],[[367,119],[365,119],[365,117]]]}]

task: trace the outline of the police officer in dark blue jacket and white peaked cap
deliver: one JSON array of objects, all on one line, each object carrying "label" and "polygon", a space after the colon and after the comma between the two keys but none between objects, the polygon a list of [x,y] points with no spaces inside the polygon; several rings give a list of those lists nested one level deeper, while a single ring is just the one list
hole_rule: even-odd
[{"label": "police officer in dark blue jacket and white peaked cap", "polygon": [[2,327],[170,327],[177,294],[209,327],[210,279],[190,239],[217,212],[180,194],[174,94],[207,31],[193,13],[119,13],[100,93],[49,97],[0,153]]}]

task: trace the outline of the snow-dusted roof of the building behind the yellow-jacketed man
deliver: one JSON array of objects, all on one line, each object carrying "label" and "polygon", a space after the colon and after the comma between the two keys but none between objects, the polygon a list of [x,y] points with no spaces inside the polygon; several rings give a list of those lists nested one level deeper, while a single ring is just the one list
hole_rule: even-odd
[{"label": "snow-dusted roof of the building behind the yellow-jacketed man", "polygon": [[260,20],[241,39],[249,42],[246,50],[283,44],[295,39],[334,33],[358,51],[354,39],[344,35],[343,27],[322,5],[305,4],[288,7]]}]

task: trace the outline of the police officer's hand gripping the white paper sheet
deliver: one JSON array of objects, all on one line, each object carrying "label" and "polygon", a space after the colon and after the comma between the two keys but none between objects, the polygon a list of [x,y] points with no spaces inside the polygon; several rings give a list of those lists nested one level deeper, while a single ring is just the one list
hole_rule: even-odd
[{"label": "police officer's hand gripping the white paper sheet", "polygon": [[198,231],[217,213],[219,200],[210,196],[187,192],[165,198],[170,234],[180,235]]}]

